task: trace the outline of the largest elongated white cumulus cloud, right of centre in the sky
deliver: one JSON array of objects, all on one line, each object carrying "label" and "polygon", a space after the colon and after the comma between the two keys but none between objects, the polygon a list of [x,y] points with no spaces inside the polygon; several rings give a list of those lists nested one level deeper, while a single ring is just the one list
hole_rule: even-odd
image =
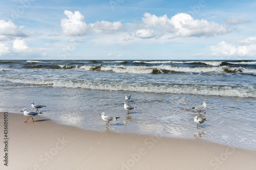
[{"label": "largest elongated white cumulus cloud, right of centre in the sky", "polygon": [[[143,24],[140,25],[137,31],[144,29],[144,31],[139,31],[139,33],[148,33],[145,34],[148,35],[148,38],[160,35],[160,32],[161,34],[163,34],[163,32],[171,34],[172,38],[193,36],[212,37],[230,32],[229,28],[225,25],[219,25],[216,22],[209,22],[204,19],[194,19],[191,15],[186,13],[178,13],[171,18],[168,18],[166,14],[158,17],[150,13],[144,13],[142,22]],[[155,32],[155,34],[152,34],[153,32]],[[156,32],[159,33],[156,34]],[[138,34],[135,33],[135,36],[137,35]],[[140,38],[145,37],[142,36]]]}]

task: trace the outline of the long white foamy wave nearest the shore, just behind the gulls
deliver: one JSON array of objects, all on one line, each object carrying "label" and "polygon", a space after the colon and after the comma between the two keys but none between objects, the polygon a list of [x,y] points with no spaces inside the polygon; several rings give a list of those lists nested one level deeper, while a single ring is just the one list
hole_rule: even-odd
[{"label": "long white foamy wave nearest the shore, just behind the gulls", "polygon": [[137,92],[154,92],[154,93],[177,93],[177,94],[194,94],[194,95],[219,95],[240,98],[256,98],[254,88],[239,87],[208,87],[193,85],[152,85],[152,84],[122,84],[117,82],[92,82],[92,81],[61,81],[61,80],[25,80],[25,79],[8,79],[2,78],[2,81],[12,83],[23,83],[37,86],[53,86],[65,88],[84,88],[92,90],[110,90],[110,91],[137,91]]}]

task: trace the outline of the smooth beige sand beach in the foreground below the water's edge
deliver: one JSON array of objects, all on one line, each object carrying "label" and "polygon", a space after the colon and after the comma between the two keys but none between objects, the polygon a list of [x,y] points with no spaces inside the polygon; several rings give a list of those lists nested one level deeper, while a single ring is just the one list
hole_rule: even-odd
[{"label": "smooth beige sand beach in the foreground below the water's edge", "polygon": [[[256,151],[202,139],[88,131],[41,116],[34,123],[26,119],[8,113],[8,166],[1,142],[0,169],[256,169]],[[3,112],[0,123],[5,141]]]}]

